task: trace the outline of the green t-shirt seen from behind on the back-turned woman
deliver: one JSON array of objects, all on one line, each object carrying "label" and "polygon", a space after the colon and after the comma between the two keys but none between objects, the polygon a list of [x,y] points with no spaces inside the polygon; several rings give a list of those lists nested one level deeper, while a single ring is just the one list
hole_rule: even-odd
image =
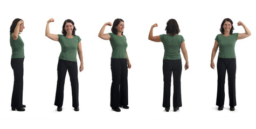
[{"label": "green t-shirt seen from behind on the back-turned woman", "polygon": [[179,60],[181,59],[181,54],[179,52],[181,49],[181,43],[184,42],[182,35],[169,35],[161,34],[160,39],[164,46],[164,56],[163,59],[167,60]]}]

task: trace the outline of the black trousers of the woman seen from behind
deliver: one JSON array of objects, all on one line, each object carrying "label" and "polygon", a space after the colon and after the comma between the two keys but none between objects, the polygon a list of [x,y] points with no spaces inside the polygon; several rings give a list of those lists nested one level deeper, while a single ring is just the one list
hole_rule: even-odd
[{"label": "black trousers of the woman seen from behind", "polygon": [[174,76],[174,97],[173,106],[182,106],[181,102],[181,60],[163,60],[163,107],[170,107],[170,92],[171,92],[171,73]]}]

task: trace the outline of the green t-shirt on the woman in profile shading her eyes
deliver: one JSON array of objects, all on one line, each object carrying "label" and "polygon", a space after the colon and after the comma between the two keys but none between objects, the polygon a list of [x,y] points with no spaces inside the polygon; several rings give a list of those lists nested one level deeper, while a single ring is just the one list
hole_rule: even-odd
[{"label": "green t-shirt on the woman in profile shading her eyes", "polygon": [[20,38],[20,36],[18,35],[18,39],[13,40],[11,35],[10,35],[10,44],[12,49],[11,58],[25,58],[24,42],[22,41],[22,38]]}]

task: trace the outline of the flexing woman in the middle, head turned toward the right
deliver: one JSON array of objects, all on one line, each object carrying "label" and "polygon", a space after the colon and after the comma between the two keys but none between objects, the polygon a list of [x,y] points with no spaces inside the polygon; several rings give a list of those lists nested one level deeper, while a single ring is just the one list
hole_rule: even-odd
[{"label": "flexing woman in the middle, head turned toward the right", "polygon": [[[100,32],[99,37],[104,40],[110,40],[112,46],[111,71],[112,85],[110,92],[110,106],[116,112],[120,112],[120,107],[129,109],[128,105],[128,69],[131,64],[127,55],[126,37],[123,35],[124,21],[115,19],[111,28],[112,33],[104,33],[106,26],[111,26],[110,22],[105,23]],[[128,66],[127,66],[128,65]]]}]

